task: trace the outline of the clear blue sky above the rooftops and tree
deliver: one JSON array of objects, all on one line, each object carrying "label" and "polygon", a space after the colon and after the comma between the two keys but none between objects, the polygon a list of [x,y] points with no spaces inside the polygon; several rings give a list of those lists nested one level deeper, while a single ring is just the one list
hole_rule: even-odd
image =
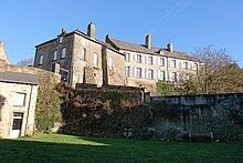
[{"label": "clear blue sky above the rooftops and tree", "polygon": [[243,68],[243,0],[1,0],[0,40],[11,63],[33,58],[35,45],[66,31],[144,43],[193,53],[212,45],[226,49]]}]

